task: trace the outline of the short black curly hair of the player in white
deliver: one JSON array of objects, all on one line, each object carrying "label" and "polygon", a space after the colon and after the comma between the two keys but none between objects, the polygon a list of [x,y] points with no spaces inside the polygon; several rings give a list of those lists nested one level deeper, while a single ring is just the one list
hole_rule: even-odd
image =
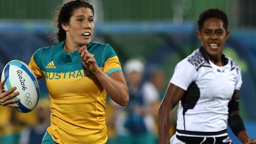
[{"label": "short black curly hair of the player in white", "polygon": [[197,20],[198,31],[202,30],[202,28],[204,26],[204,22],[206,20],[208,20],[209,18],[213,18],[213,17],[222,20],[224,29],[228,30],[228,17],[226,15],[226,13],[224,13],[221,9],[206,9],[199,15],[199,18]]}]

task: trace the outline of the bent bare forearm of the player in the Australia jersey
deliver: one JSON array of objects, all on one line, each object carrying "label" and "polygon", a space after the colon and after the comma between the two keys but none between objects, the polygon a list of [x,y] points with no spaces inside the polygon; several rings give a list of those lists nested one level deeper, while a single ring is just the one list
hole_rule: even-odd
[{"label": "bent bare forearm of the player in the Australia jersey", "polygon": [[111,78],[102,70],[97,70],[95,76],[114,102],[122,106],[128,103],[128,88],[125,83]]}]

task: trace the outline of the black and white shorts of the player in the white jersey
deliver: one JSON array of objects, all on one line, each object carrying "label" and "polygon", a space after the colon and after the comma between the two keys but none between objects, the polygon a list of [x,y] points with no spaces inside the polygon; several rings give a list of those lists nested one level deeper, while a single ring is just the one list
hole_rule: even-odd
[{"label": "black and white shorts of the player in the white jersey", "polygon": [[233,144],[228,136],[223,137],[186,137],[173,135],[170,144]]}]

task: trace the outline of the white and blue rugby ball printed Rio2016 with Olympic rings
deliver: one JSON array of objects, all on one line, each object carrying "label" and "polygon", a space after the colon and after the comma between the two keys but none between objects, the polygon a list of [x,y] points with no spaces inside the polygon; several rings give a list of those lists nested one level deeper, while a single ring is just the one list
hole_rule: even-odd
[{"label": "white and blue rugby ball printed Rio2016 with Olympic rings", "polygon": [[21,113],[32,111],[39,100],[39,85],[30,67],[19,60],[10,61],[2,72],[1,81],[4,79],[4,91],[17,87],[14,92],[20,93],[13,98],[20,98],[20,102],[16,103],[19,107],[14,108]]}]

